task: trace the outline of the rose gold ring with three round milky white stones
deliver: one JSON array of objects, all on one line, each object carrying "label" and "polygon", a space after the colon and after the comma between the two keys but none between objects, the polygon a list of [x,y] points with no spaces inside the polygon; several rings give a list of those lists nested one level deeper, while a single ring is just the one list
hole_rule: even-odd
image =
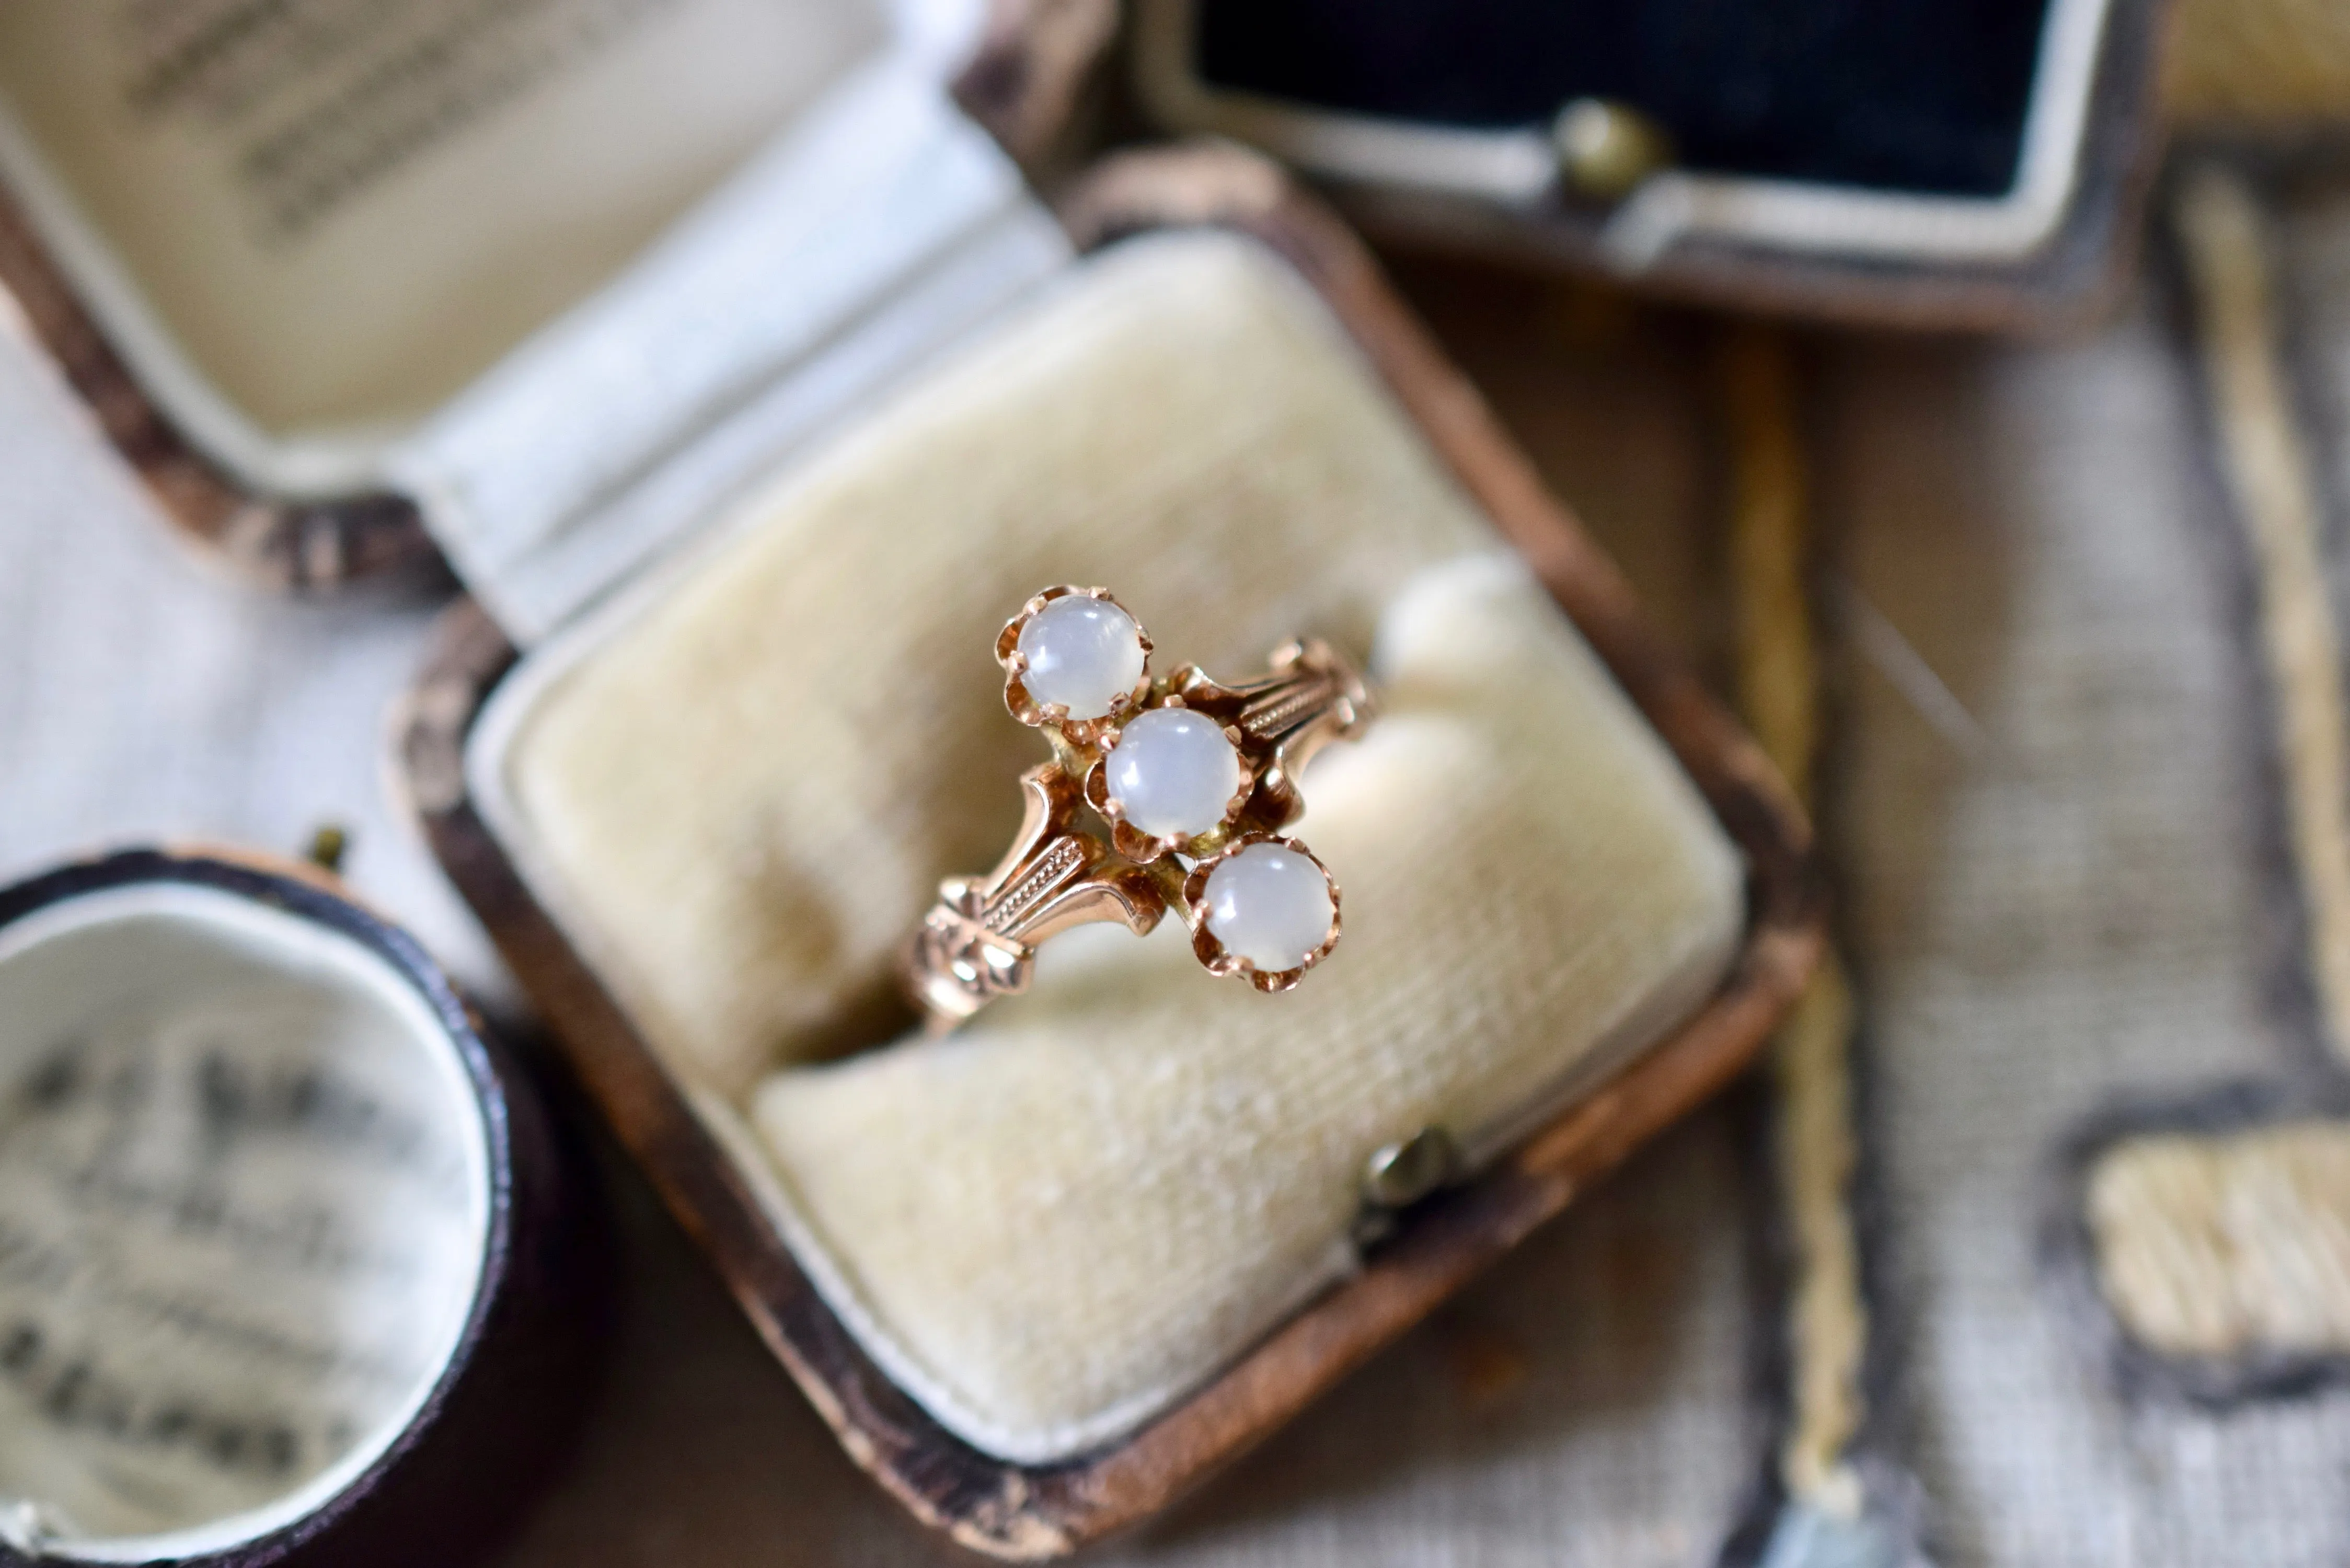
[{"label": "rose gold ring with three round milky white stones", "polygon": [[1144,936],[1177,910],[1210,976],[1262,992],[1337,947],[1337,882],[1283,827],[1314,752],[1370,722],[1363,677],[1321,642],[1283,644],[1238,686],[1198,665],[1152,679],[1149,661],[1104,588],[1046,588],[996,637],[1003,705],[1053,762],[1020,776],[1027,816],[1001,865],[942,882],[907,945],[933,1032],[1027,990],[1039,943],[1088,922]]}]

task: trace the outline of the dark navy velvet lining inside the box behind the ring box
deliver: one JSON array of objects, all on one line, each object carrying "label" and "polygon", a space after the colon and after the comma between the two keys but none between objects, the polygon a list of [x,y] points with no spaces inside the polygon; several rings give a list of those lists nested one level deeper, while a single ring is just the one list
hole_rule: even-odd
[{"label": "dark navy velvet lining inside the box behind the ring box", "polygon": [[2005,195],[2049,0],[1198,0],[1198,75],[1455,127],[1577,96],[1661,120],[1685,167]]}]

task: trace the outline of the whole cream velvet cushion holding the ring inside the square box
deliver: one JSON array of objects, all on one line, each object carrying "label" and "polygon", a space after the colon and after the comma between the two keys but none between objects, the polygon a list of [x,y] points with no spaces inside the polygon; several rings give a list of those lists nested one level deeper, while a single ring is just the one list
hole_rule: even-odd
[{"label": "whole cream velvet cushion holding the ring inside the square box", "polygon": [[[1384,717],[1307,773],[1347,938],[1295,994],[1173,924],[844,1060],[846,1018],[1041,759],[989,649],[1104,583],[1168,665],[1290,635]],[[1365,1159],[1490,1159],[1720,983],[1744,867],[1661,738],[1323,301],[1229,233],[1130,240],[712,543],[531,651],[472,731],[531,893],[862,1349],[1020,1462],[1144,1422],[1354,1267]]]}]

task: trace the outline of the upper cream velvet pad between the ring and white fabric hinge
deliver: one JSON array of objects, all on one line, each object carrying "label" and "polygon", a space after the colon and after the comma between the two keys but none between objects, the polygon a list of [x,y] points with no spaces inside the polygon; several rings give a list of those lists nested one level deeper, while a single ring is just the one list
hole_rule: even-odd
[{"label": "upper cream velvet pad between the ring and white fabric hinge", "polygon": [[1010,842],[1043,748],[992,649],[1036,588],[1107,583],[1161,658],[1246,670],[1300,632],[1361,656],[1412,571],[1492,548],[1302,284],[1222,240],[1083,268],[721,529],[533,656],[475,780],[679,1077],[728,1095]]}]

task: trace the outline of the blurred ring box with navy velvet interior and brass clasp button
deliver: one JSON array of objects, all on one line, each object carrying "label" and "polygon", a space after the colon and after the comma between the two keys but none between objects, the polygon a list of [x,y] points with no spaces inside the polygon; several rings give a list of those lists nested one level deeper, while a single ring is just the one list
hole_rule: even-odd
[{"label": "blurred ring box with navy velvet interior and brass clasp button", "polygon": [[1170,132],[1264,148],[1379,237],[1856,324],[2110,296],[2160,153],[2155,0],[1720,7],[1137,0]]}]

